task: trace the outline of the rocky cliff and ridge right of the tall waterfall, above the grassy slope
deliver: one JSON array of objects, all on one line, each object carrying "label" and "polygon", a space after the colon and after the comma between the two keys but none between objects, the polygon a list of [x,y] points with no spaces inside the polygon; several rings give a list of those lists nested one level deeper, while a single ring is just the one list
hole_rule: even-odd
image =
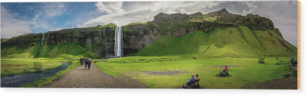
[{"label": "rocky cliff and ridge right of the tall waterfall, above the grassy slope", "polygon": [[238,26],[248,26],[253,30],[275,29],[269,18],[253,14],[232,14],[225,8],[208,14],[159,13],[153,21],[123,26],[124,54],[140,51],[161,35],[181,37],[196,30],[208,33],[216,28]]}]

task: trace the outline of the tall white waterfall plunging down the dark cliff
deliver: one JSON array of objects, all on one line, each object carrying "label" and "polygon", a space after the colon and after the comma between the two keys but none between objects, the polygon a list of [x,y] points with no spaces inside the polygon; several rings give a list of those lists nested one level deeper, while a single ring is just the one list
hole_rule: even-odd
[{"label": "tall white waterfall plunging down the dark cliff", "polygon": [[116,27],[115,29],[115,44],[114,44],[114,52],[115,52],[115,57],[122,57],[123,56],[123,34],[122,34],[122,29],[121,27]]}]

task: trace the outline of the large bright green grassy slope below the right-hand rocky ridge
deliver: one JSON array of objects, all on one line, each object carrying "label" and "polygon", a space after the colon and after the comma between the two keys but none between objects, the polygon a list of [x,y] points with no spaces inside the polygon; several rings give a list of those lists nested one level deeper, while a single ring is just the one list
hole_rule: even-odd
[{"label": "large bright green grassy slope below the right-hand rocky ridge", "polygon": [[182,37],[161,36],[137,56],[186,55],[209,57],[258,57],[295,55],[297,48],[276,34],[246,26],[218,28],[212,32],[195,31]]}]

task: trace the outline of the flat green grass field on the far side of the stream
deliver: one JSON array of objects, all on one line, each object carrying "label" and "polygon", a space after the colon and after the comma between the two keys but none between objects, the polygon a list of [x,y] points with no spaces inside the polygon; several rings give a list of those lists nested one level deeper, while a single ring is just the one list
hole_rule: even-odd
[{"label": "flat green grass field on the far side of the stream", "polygon": [[42,71],[47,69],[52,69],[61,65],[60,59],[2,59],[1,58],[1,77],[12,76],[17,74],[24,74],[35,72],[33,67],[34,62],[42,63]]}]

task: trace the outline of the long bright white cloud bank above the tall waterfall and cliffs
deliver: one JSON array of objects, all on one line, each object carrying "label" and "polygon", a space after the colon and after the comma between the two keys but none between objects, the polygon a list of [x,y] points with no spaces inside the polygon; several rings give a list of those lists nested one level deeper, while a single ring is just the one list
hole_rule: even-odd
[{"label": "long bright white cloud bank above the tall waterfall and cliffs", "polygon": [[[122,2],[97,2],[95,6],[101,12],[109,14],[88,20],[78,27],[93,26],[97,24],[115,23],[122,26],[132,22],[146,22],[153,20],[160,12],[165,13],[195,13],[206,11],[204,7],[213,8],[223,1],[155,1],[155,2],[130,2],[123,7]],[[110,6],[108,6],[110,5]],[[123,7],[123,8],[122,8]],[[127,10],[124,10],[127,8]]]}]

